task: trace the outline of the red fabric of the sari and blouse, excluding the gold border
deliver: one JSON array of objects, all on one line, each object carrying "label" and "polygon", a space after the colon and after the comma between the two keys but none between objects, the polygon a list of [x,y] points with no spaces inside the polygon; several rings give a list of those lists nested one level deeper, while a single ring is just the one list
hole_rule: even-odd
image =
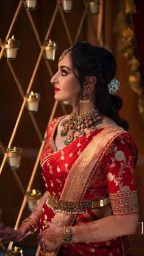
[{"label": "red fabric of the sari and blouse, excluding the gold border", "polygon": [[[51,138],[51,131],[57,119],[52,120],[47,130],[47,140],[45,148],[41,153],[41,167],[42,175],[45,181],[45,188],[51,195],[60,197],[65,180],[67,179],[68,172],[70,172],[79,154],[84,150],[88,143],[96,136],[103,128],[93,131],[88,136],[82,136],[73,141],[70,145],[65,146],[62,150],[54,152],[52,144],[54,144],[54,137]],[[56,127],[55,127],[56,131]],[[96,221],[99,218],[112,214],[114,209],[118,214],[118,208],[113,197],[115,193],[119,193],[120,197],[123,196],[123,192],[126,194],[126,200],[129,197],[129,191],[135,191],[134,182],[134,155],[131,151],[137,152],[135,144],[131,139],[131,136],[127,134],[126,142],[124,135],[121,135],[112,143],[106,155],[103,158],[101,168],[95,173],[92,183],[89,185],[85,194],[84,200],[98,200],[112,195],[112,208],[109,205],[103,208],[103,210],[88,210],[87,213],[79,214],[73,225],[81,225],[89,221]],[[52,139],[52,144],[50,143]],[[56,145],[55,145],[56,147]],[[122,190],[121,190],[122,189]],[[121,194],[122,191],[122,194]],[[131,194],[131,193],[130,193]],[[114,195],[114,196],[113,196]],[[111,197],[110,197],[111,199]],[[131,198],[130,198],[131,199]],[[125,200],[125,199],[124,199]],[[121,208],[120,214],[137,212],[137,205],[131,202],[126,209]],[[43,214],[39,223],[39,232],[45,229],[43,220],[47,219],[51,221],[54,217],[54,213],[51,208],[48,208],[46,203],[43,205]],[[58,255],[99,255],[99,256],[112,256],[112,255],[131,255],[129,250],[129,244],[127,236],[121,238],[115,238],[110,241],[91,244],[68,244],[63,245],[60,248]]]}]

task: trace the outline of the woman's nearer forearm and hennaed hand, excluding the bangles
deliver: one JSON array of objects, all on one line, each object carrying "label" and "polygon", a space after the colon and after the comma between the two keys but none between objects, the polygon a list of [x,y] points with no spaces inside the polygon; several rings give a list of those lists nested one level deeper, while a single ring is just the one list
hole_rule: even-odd
[{"label": "woman's nearer forearm and hennaed hand, excluding the bangles", "polygon": [[[64,239],[64,230],[58,225],[44,221],[48,227],[43,230],[39,238],[40,246],[45,244],[44,252],[57,249]],[[88,224],[75,225],[71,227],[74,243],[99,243],[112,240],[121,235],[129,235],[135,232],[138,223],[138,213],[125,215],[110,215],[89,222]]]}]

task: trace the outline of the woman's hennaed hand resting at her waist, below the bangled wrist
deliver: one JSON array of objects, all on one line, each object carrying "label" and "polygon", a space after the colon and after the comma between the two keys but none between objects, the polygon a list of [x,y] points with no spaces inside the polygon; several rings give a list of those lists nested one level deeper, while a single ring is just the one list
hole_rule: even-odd
[{"label": "woman's hennaed hand resting at her waist, below the bangled wrist", "polygon": [[48,221],[44,221],[44,224],[48,228],[38,235],[38,243],[43,252],[54,251],[63,243],[63,228]]}]

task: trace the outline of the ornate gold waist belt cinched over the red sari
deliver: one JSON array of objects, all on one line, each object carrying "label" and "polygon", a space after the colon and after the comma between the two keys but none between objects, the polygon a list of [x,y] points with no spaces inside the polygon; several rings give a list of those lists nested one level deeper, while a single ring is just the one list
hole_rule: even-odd
[{"label": "ornate gold waist belt cinched over the red sari", "polygon": [[61,199],[57,199],[56,196],[51,196],[49,193],[46,198],[46,205],[50,207],[54,213],[65,213],[65,214],[82,214],[87,210],[104,207],[110,203],[110,198],[106,197],[105,199],[97,200],[95,202],[82,202],[82,203],[74,203],[63,201]]}]

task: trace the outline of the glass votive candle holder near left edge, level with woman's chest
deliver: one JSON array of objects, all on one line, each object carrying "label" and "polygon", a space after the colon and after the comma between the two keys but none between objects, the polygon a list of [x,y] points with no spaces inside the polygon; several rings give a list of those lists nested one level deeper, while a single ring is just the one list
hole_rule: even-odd
[{"label": "glass votive candle holder near left edge, level with woman's chest", "polygon": [[20,167],[22,151],[23,150],[21,147],[7,148],[7,156],[10,168],[18,169]]}]

